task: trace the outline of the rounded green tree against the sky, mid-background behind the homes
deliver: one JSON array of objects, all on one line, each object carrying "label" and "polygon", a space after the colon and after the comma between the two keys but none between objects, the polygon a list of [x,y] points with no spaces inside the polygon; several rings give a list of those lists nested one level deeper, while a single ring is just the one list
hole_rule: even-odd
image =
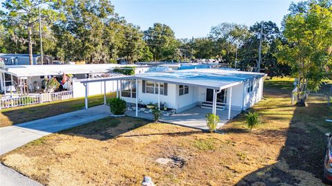
[{"label": "rounded green tree against the sky, mid-background behind the homes", "polygon": [[165,24],[154,24],[144,32],[154,61],[174,59],[179,42],[175,39],[174,31]]}]

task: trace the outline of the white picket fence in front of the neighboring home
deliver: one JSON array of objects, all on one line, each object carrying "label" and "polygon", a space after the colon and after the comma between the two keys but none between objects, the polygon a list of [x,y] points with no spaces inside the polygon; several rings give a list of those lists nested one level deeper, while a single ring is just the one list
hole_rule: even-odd
[{"label": "white picket fence in front of the neighboring home", "polygon": [[35,93],[29,95],[13,95],[7,97],[1,97],[0,110],[24,106],[28,104],[38,104],[42,102],[53,102],[56,100],[66,100],[73,98],[73,91],[62,91],[57,93]]}]

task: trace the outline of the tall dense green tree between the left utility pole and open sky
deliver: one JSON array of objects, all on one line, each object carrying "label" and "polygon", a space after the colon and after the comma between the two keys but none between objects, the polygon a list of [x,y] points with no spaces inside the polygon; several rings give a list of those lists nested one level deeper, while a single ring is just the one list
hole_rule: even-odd
[{"label": "tall dense green tree between the left utility pole and open sky", "polygon": [[[84,60],[87,63],[105,63],[109,59],[109,22],[113,6],[108,0],[62,0],[55,10],[63,12],[65,19],[55,26],[55,35],[67,46],[67,60]],[[121,36],[120,36],[121,37]]]}]

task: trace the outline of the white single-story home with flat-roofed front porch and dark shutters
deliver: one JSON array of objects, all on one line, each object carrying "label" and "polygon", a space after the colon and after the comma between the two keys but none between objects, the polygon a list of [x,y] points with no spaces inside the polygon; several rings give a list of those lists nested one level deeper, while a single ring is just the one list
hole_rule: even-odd
[{"label": "white single-story home with flat-roofed front porch and dark shutters", "polygon": [[104,81],[116,80],[120,84],[117,95],[128,103],[127,115],[151,118],[151,111],[145,105],[156,104],[162,110],[165,108],[165,113],[171,111],[164,114],[162,121],[205,128],[206,113],[219,115],[223,124],[259,102],[264,76],[264,73],[200,68],[111,77]]}]

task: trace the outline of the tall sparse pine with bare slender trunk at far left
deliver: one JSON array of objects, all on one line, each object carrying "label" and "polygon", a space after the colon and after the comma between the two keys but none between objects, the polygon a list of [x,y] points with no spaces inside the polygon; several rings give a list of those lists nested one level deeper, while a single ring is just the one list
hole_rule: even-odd
[{"label": "tall sparse pine with bare slender trunk at far left", "polygon": [[37,31],[38,8],[41,8],[44,28],[59,18],[59,13],[51,10],[54,0],[6,0],[2,3],[6,12],[0,15],[3,17],[3,24],[11,35],[13,41],[21,44],[28,44],[29,62],[33,64],[33,35]]}]

